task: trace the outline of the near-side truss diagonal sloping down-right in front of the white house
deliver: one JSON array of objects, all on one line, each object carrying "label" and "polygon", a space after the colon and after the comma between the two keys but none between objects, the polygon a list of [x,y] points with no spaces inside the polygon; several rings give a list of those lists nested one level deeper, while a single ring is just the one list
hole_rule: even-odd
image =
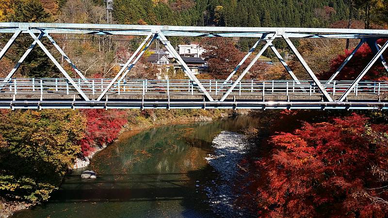
[{"label": "near-side truss diagonal sloping down-right in front of the white house", "polygon": [[202,83],[199,82],[199,80],[195,77],[193,72],[190,70],[189,66],[183,61],[183,59],[179,56],[178,52],[174,49],[174,47],[171,45],[170,41],[167,40],[167,38],[164,36],[162,32],[159,32],[159,37],[163,43],[163,45],[167,48],[167,50],[170,52],[170,54],[177,59],[178,62],[180,62],[180,65],[182,66],[183,70],[187,74],[187,76],[194,80],[195,83],[198,85],[198,87],[202,90],[202,92],[208,97],[209,101],[214,101],[214,99],[210,96],[208,91],[206,91],[205,87],[203,87]]}]

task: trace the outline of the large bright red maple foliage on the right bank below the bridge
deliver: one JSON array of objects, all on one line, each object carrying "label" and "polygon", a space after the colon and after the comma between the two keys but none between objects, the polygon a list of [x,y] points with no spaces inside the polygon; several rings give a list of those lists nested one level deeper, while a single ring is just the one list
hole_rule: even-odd
[{"label": "large bright red maple foliage on the right bank below the bridge", "polygon": [[372,169],[388,168],[388,143],[377,131],[387,127],[353,114],[273,136],[241,201],[259,217],[387,217],[388,179]]}]

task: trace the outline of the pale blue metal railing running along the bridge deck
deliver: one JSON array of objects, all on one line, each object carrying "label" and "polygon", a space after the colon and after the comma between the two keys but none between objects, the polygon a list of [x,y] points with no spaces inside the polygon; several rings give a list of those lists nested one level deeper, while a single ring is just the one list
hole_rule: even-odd
[{"label": "pale blue metal railing running along the bridge deck", "polygon": [[[0,78],[3,81],[3,78]],[[100,94],[112,79],[88,78],[87,81],[76,78],[75,83],[85,94]],[[203,87],[212,95],[222,95],[232,86],[234,81],[200,80]],[[332,94],[344,93],[352,81],[321,81],[325,90]],[[353,95],[380,94],[388,92],[388,81],[360,81],[352,90]],[[77,90],[65,78],[12,78],[0,82],[0,95],[3,94],[77,94]],[[123,79],[116,82],[109,94],[139,95],[202,95],[194,80],[147,80]],[[233,95],[314,95],[321,94],[320,89],[312,80],[241,80],[231,92]]]}]

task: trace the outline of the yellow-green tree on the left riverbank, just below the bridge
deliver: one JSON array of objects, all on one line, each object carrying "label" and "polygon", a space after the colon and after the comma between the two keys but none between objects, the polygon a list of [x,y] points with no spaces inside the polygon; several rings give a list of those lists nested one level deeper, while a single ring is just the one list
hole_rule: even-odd
[{"label": "yellow-green tree on the left riverbank, just below the bridge", "polygon": [[3,110],[0,120],[0,195],[47,200],[81,152],[84,117],[72,110]]}]

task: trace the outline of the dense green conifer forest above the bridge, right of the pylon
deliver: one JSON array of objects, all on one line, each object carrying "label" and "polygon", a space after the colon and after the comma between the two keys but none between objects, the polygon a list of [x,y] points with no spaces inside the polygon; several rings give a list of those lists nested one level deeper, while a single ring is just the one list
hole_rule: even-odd
[{"label": "dense green conifer forest above the bridge, right of the pylon", "polygon": [[128,24],[324,27],[347,8],[344,0],[115,0],[113,15]]}]

